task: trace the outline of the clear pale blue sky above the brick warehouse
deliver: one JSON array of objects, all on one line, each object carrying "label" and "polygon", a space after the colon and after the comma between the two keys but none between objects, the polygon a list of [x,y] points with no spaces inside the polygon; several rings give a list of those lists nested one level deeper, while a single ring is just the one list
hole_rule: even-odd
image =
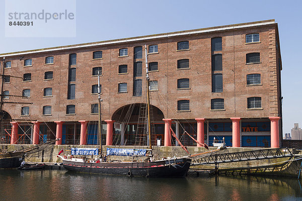
[{"label": "clear pale blue sky above the brick warehouse", "polygon": [[283,66],[283,133],[290,133],[294,123],[302,127],[302,66],[296,62],[302,55],[302,1],[78,0],[72,38],[6,38],[5,1],[0,2],[0,53],[275,19]]}]

